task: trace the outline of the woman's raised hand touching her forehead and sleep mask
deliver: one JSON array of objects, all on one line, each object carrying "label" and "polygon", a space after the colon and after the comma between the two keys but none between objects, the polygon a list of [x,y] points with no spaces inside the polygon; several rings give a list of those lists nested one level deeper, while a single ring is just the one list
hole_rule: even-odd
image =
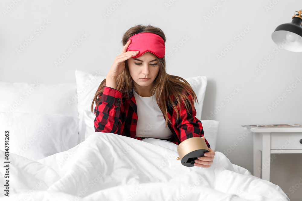
[{"label": "woman's raised hand touching her forehead and sleep mask", "polygon": [[131,43],[131,39],[124,45],[121,54],[117,55],[117,57],[114,59],[114,62],[109,70],[107,77],[109,76],[113,79],[116,79],[116,77],[124,71],[125,61],[139,53],[139,51],[126,52],[130,43]]}]

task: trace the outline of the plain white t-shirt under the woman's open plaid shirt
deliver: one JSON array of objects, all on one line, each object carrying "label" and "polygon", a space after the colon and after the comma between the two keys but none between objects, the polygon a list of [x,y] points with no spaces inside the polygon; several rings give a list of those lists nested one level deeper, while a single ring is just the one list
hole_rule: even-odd
[{"label": "plain white t-shirt under the woman's open plaid shirt", "polygon": [[168,139],[172,136],[169,126],[165,128],[165,118],[157,105],[155,94],[142,97],[133,90],[137,104],[137,127],[135,137]]}]

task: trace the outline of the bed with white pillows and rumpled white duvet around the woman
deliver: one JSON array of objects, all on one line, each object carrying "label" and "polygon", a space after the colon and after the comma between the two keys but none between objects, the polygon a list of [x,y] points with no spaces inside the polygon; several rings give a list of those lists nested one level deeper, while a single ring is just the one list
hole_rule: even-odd
[{"label": "bed with white pillows and rumpled white duvet around the woman", "polygon": [[[186,167],[169,141],[95,132],[90,107],[105,76],[75,76],[69,84],[0,82],[1,200],[289,200],[221,152],[210,168]],[[201,119],[207,78],[186,80]],[[215,150],[219,122],[201,122]]]}]

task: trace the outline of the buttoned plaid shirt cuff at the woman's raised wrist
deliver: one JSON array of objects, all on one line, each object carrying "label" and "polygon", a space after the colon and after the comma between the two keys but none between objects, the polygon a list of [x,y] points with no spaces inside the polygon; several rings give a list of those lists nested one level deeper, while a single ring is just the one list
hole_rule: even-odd
[{"label": "buttoned plaid shirt cuff at the woman's raised wrist", "polygon": [[101,97],[101,102],[107,102],[109,104],[120,107],[121,101],[122,93],[119,90],[105,86],[103,95]]}]

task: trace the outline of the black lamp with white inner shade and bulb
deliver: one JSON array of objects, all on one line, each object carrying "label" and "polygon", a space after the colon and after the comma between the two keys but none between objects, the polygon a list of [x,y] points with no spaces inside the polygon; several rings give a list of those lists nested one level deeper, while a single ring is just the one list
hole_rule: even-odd
[{"label": "black lamp with white inner shade and bulb", "polygon": [[302,17],[300,11],[295,11],[291,23],[279,25],[271,34],[271,38],[277,45],[281,45],[284,41],[287,45],[284,49],[292,52],[302,52]]}]

